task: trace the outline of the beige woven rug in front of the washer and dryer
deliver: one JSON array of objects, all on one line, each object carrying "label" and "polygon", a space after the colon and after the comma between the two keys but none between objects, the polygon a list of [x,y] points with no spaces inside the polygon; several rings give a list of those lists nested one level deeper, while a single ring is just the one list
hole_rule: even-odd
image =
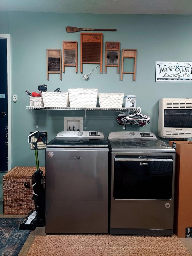
[{"label": "beige woven rug in front of the washer and dryer", "polygon": [[27,256],[190,256],[176,235],[35,236]]}]

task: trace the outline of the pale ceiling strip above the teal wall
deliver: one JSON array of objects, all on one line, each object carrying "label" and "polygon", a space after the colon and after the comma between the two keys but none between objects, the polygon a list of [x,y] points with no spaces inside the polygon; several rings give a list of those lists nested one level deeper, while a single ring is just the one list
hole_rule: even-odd
[{"label": "pale ceiling strip above the teal wall", "polygon": [[192,14],[192,0],[0,0],[0,11]]}]

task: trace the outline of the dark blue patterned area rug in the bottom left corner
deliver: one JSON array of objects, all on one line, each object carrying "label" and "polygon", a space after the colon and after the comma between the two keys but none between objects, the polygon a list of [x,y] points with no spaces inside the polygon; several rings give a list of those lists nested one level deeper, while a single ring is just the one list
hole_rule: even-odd
[{"label": "dark blue patterned area rug in the bottom left corner", "polygon": [[17,256],[30,230],[19,230],[24,218],[0,218],[0,255]]}]

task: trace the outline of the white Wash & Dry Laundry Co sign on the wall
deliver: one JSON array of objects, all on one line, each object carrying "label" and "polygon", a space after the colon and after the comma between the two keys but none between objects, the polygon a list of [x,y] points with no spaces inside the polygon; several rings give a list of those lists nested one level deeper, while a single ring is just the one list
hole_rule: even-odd
[{"label": "white Wash & Dry Laundry Co sign on the wall", "polygon": [[155,82],[192,82],[192,62],[156,61]]}]

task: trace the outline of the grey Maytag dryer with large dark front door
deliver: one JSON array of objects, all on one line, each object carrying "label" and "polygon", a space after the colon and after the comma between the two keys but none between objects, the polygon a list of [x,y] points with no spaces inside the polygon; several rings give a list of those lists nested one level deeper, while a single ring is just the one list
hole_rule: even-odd
[{"label": "grey Maytag dryer with large dark front door", "polygon": [[111,234],[173,235],[176,151],[151,132],[112,132]]}]

